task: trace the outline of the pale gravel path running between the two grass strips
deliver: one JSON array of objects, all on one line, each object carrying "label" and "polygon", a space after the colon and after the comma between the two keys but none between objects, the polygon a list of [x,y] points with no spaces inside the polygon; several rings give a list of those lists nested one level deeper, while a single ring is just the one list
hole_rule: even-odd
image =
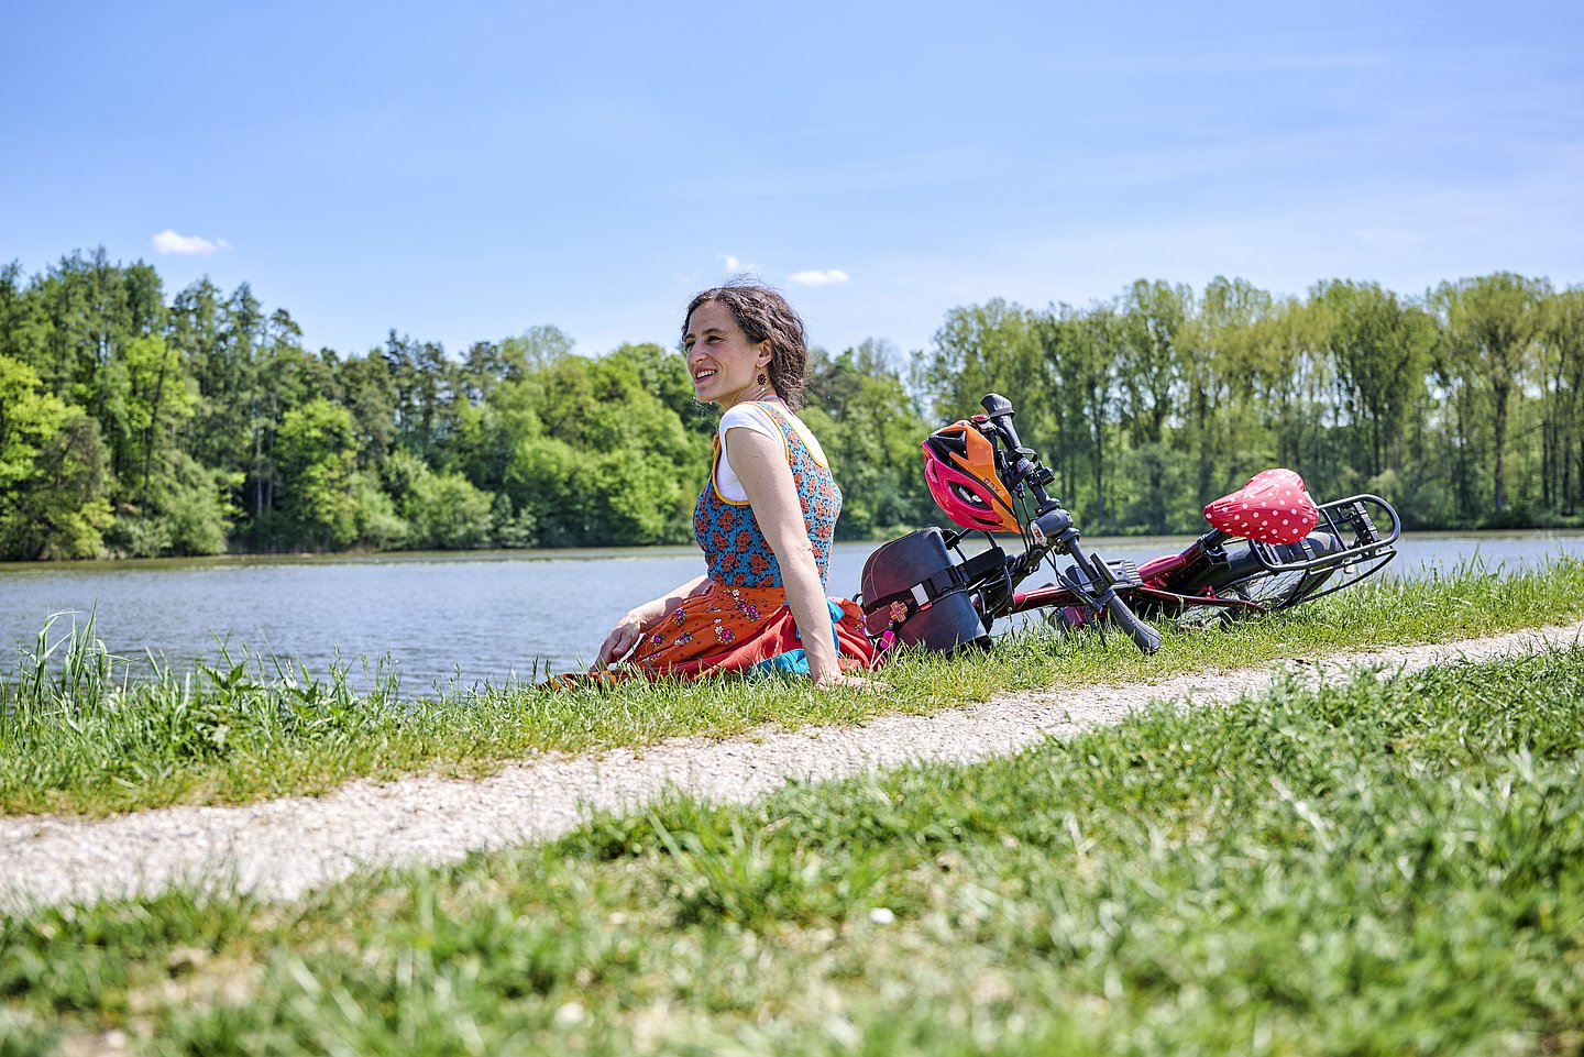
[{"label": "pale gravel path running between the two grass strips", "polygon": [[1319,662],[1201,672],[1158,683],[1028,693],[933,716],[885,716],[857,727],[678,738],[642,751],[545,757],[489,778],[352,783],[323,797],[244,807],[179,807],[109,819],[0,819],[0,908],[152,892],[176,881],[234,884],[291,897],[386,864],[440,864],[470,851],[543,840],[589,808],[632,808],[667,788],[744,802],[789,780],[822,780],[911,761],[971,761],[1044,737],[1115,723],[1152,700],[1213,704],[1270,686],[1281,670],[1312,678],[1362,666],[1419,670],[1571,645],[1584,623],[1437,647],[1400,647]]}]

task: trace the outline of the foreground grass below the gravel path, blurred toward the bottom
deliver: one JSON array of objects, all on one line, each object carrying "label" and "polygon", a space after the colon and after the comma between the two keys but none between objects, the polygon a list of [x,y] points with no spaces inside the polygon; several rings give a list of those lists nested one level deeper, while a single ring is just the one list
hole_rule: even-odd
[{"label": "foreground grass below the gravel path, blurred toward the bottom", "polygon": [[1584,650],[0,919],[0,1054],[1584,1052]]}]

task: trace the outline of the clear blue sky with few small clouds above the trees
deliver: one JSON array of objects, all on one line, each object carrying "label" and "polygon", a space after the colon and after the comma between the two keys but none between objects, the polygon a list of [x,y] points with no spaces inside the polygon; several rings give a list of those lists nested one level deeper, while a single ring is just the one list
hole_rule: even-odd
[{"label": "clear blue sky with few small clouds above the trees", "polygon": [[250,282],[310,349],[816,344],[1139,277],[1584,282],[1584,5],[55,3],[0,24],[0,261]]}]

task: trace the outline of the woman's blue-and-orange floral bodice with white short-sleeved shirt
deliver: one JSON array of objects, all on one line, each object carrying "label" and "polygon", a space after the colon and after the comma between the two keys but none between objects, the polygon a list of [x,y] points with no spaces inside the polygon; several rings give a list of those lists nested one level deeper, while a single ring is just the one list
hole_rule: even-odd
[{"label": "woman's blue-and-orange floral bodice with white short-sleeved shirt", "polygon": [[[817,450],[817,441],[811,445],[803,439],[803,433],[782,407],[768,403],[738,404],[738,407],[765,415],[781,436],[798,502],[803,507],[808,542],[814,548],[819,582],[824,585],[830,567],[830,540],[836,531],[836,517],[841,513],[841,490],[830,475],[824,452]],[[738,407],[727,415],[733,415]],[[746,498],[732,499],[722,494],[722,471],[727,471],[725,475],[735,483],[735,474],[729,474],[730,464],[724,445],[725,431],[733,425],[744,423],[740,417],[738,422],[722,418],[716,433],[710,480],[694,507],[694,539],[703,548],[711,580],[729,586],[779,588],[781,563],[759,528],[752,506]]]}]

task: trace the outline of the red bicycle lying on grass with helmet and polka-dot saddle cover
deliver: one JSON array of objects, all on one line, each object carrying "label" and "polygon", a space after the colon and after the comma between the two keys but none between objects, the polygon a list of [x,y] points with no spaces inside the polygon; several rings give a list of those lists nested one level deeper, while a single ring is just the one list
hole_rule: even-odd
[{"label": "red bicycle lying on grass with helmet and polka-dot saddle cover", "polygon": [[[1380,496],[1315,504],[1289,469],[1269,469],[1205,507],[1210,529],[1175,555],[1142,566],[1083,550],[1072,515],[1045,491],[1055,475],[1023,447],[1012,403],[995,393],[984,414],[923,444],[930,493],[960,531],[909,532],[870,555],[860,602],[881,648],[952,651],[987,643],[996,620],[1044,610],[1064,628],[1121,628],[1145,653],[1161,634],[1147,620],[1229,623],[1334,594],[1380,572],[1402,521]],[[995,534],[1017,532],[1007,551]],[[963,540],[982,536],[973,556]],[[1071,564],[1058,567],[1058,556]],[[1049,561],[1057,578],[1019,590]]]}]

